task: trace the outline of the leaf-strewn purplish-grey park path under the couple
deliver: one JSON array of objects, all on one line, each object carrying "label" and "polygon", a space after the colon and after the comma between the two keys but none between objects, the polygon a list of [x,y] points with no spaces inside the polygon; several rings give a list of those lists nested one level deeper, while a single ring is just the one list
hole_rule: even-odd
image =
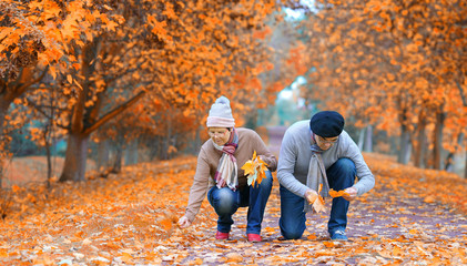
[{"label": "leaf-strewn purplish-grey park path under the couple", "polygon": [[[278,154],[283,127],[270,133],[271,150]],[[372,163],[380,158],[365,155]],[[393,166],[398,167],[394,163]],[[373,168],[372,168],[373,170]],[[374,190],[353,202],[348,212],[348,242],[331,242],[326,213],[309,214],[302,239],[278,241],[280,196],[275,180],[263,222],[263,242],[245,236],[246,208],[235,215],[230,241],[215,241],[215,215],[210,226],[196,227],[190,245],[170,242],[161,264],[202,265],[467,265],[467,216],[427,200],[402,180],[376,168]],[[423,181],[422,181],[423,182]],[[207,206],[209,208],[210,206]],[[199,214],[203,215],[203,214]],[[177,234],[183,238],[183,234]],[[180,237],[181,236],[181,237]],[[177,258],[177,252],[181,256]],[[177,258],[177,259],[176,259]]]}]

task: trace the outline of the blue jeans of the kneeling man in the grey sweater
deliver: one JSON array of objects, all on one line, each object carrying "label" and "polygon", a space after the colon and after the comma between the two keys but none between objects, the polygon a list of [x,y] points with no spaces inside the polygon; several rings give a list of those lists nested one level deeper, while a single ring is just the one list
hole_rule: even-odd
[{"label": "blue jeans of the kneeling man in the grey sweater", "polygon": [[[352,160],[339,158],[326,170],[329,187],[335,191],[345,190],[354,184],[356,167]],[[282,236],[286,239],[298,239],[306,228],[306,213],[303,212],[305,198],[297,196],[281,185],[281,218],[278,225]],[[329,234],[347,227],[347,211],[349,202],[344,197],[333,198],[331,217],[327,223]]]}]

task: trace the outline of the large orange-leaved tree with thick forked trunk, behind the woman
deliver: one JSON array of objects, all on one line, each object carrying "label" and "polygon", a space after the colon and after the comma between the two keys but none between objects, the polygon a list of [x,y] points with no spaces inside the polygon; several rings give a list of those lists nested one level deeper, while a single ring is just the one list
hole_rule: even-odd
[{"label": "large orange-leaved tree with thick forked trunk, behind the woman", "polygon": [[[70,135],[62,181],[83,180],[90,134],[143,94],[183,108],[189,115],[220,92],[235,98],[235,90],[225,85],[229,79],[262,63],[254,60],[252,30],[261,28],[274,2],[144,3],[94,2],[88,12],[95,9],[101,17],[89,18],[80,44],[68,47],[79,63],[57,76],[71,84],[61,90],[70,106],[63,122]],[[123,105],[115,108],[120,100]]]}]

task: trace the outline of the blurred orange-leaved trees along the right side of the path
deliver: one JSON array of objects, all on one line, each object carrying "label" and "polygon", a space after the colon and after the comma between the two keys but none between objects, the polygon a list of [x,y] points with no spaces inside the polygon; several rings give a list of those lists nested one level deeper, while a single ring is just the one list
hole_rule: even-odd
[{"label": "blurred orange-leaved trees along the right side of the path", "polygon": [[[308,48],[315,51],[313,92],[362,125],[389,132],[398,125],[400,162],[406,162],[405,147],[414,144],[419,156],[426,143],[433,150],[430,165],[439,168],[441,144],[451,142],[443,142],[443,134],[466,129],[458,120],[464,95],[456,89],[464,82],[466,4],[317,1],[316,9],[305,22]],[[447,117],[457,123],[445,127]],[[433,129],[429,139],[427,129]]]}]

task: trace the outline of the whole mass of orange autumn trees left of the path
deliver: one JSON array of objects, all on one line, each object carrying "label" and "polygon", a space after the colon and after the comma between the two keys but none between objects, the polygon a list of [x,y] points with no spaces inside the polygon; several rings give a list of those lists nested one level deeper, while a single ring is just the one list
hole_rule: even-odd
[{"label": "whole mass of orange autumn trees left of the path", "polygon": [[202,137],[220,94],[242,123],[293,75],[271,63],[288,54],[267,43],[277,11],[267,0],[2,1],[2,161],[18,130],[45,147],[65,139],[60,181],[82,181],[91,135],[116,157],[138,140],[166,158]]}]

